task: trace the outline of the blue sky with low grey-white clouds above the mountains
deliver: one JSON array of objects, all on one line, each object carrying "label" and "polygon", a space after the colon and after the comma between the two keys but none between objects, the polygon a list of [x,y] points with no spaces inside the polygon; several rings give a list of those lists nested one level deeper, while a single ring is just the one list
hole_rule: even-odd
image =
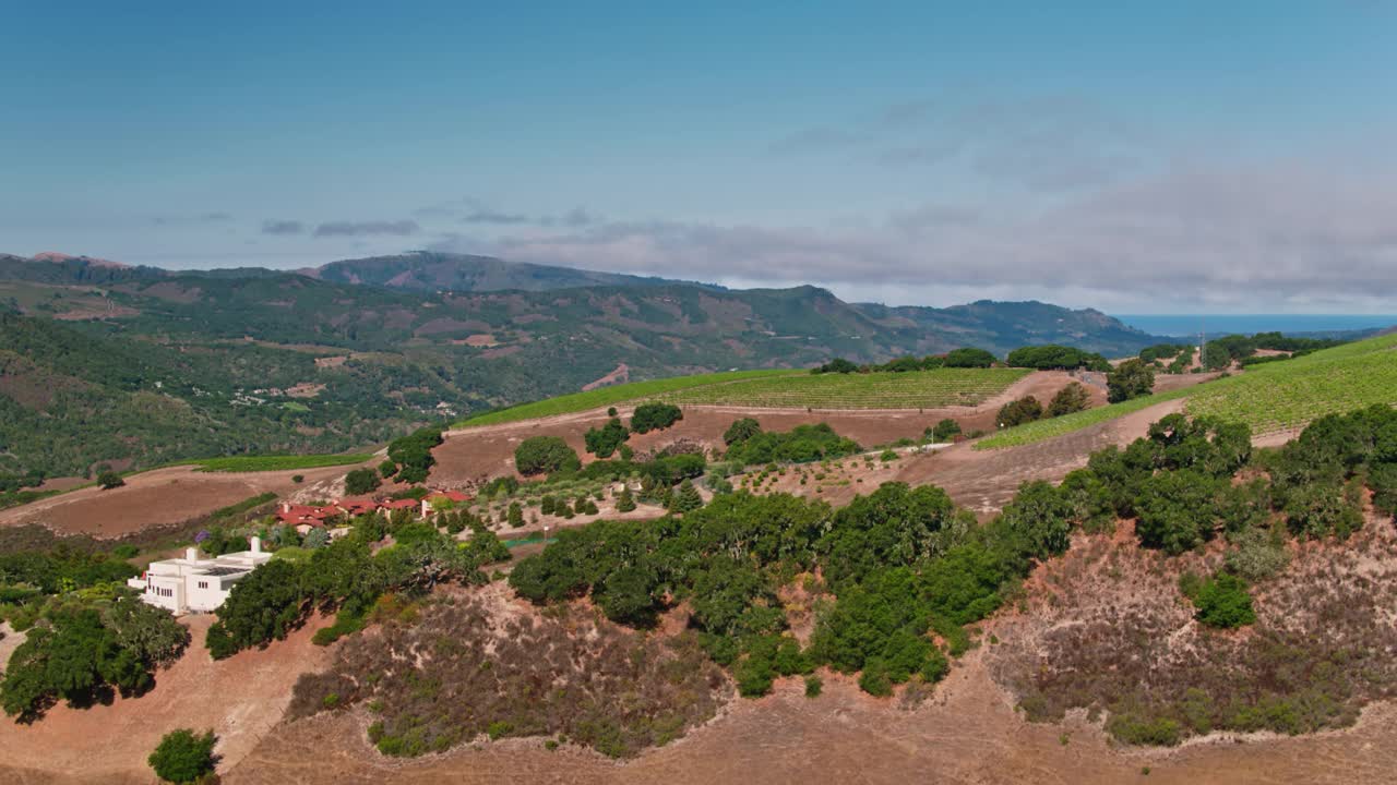
[{"label": "blue sky with low grey-white clouds above the mountains", "polygon": [[4,4],[0,250],[1393,310],[1397,3],[404,6]]}]

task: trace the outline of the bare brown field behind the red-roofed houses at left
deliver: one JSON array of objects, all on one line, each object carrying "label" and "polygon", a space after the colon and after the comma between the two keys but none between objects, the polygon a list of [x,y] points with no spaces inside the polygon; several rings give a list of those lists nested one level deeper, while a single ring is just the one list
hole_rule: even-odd
[{"label": "bare brown field behind the red-roofed houses at left", "polygon": [[170,467],[131,475],[124,486],[112,490],[82,487],[0,511],[0,525],[42,524],[60,534],[117,538],[193,521],[258,493],[291,493],[302,487],[291,480],[293,475],[305,475],[310,485],[352,468],[200,472],[194,467]]}]

